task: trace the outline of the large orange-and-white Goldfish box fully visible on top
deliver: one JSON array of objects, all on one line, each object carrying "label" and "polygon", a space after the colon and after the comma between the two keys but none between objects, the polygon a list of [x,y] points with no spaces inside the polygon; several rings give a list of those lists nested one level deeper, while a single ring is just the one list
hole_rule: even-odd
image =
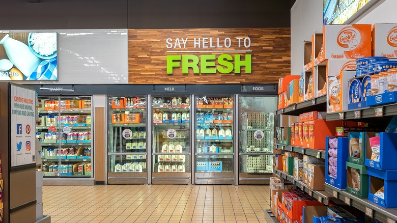
[{"label": "large orange-and-white Goldfish box fully visible on top", "polygon": [[372,25],[324,25],[325,59],[354,60],[371,57]]}]

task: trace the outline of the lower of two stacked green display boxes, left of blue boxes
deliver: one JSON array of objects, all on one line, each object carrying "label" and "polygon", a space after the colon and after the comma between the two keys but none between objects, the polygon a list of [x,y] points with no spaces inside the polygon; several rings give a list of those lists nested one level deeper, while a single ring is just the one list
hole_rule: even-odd
[{"label": "lower of two stacked green display boxes, left of blue boxes", "polygon": [[[358,170],[358,175],[355,176],[353,171],[354,169]],[[367,198],[368,197],[368,174],[367,168],[364,165],[358,165],[351,162],[346,162],[346,171],[347,171],[347,187],[346,192],[353,194],[358,198]],[[355,182],[359,181],[359,185],[356,187],[353,186],[353,179],[355,177],[359,177],[360,180],[356,179]]]}]

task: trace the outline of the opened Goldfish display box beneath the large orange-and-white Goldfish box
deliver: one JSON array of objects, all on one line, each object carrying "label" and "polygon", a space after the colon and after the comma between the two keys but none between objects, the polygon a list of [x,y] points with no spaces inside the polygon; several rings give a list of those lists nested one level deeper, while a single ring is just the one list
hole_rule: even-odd
[{"label": "opened Goldfish display box beneath the large orange-and-white Goldfish box", "polygon": [[354,60],[328,60],[327,113],[348,109],[349,80],[355,76]]}]

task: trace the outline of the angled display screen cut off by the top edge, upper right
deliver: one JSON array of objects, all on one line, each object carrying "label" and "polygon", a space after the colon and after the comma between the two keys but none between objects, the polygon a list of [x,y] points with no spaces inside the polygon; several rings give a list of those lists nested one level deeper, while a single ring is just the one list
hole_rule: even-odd
[{"label": "angled display screen cut off by the top edge, upper right", "polygon": [[323,0],[323,25],[343,24],[377,0]]}]

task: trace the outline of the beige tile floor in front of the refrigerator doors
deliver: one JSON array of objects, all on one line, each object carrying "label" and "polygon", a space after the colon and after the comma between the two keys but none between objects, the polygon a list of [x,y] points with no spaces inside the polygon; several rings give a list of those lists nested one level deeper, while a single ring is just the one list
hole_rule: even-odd
[{"label": "beige tile floor in front of the refrigerator doors", "polygon": [[273,222],[269,186],[44,186],[51,222]]}]

